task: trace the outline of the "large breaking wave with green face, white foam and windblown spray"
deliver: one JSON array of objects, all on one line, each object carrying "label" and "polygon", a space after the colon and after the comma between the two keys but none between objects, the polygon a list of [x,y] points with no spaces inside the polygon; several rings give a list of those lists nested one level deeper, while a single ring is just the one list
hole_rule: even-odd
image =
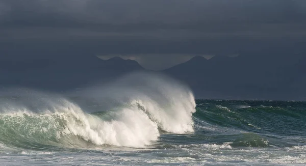
[{"label": "large breaking wave with green face, white foam and windblown spray", "polygon": [[96,104],[99,100],[116,103],[108,110],[82,108],[77,101],[58,95],[15,90],[14,96],[1,101],[0,142],[38,150],[101,145],[143,148],[157,141],[160,131],[193,132],[195,101],[188,88],[162,76],[134,74],[122,79],[107,88],[79,92],[94,97],[91,102]]}]

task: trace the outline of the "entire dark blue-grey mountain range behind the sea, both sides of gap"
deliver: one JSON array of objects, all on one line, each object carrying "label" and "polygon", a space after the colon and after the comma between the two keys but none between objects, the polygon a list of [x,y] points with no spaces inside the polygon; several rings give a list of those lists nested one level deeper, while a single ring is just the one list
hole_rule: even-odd
[{"label": "entire dark blue-grey mountain range behind the sea, both sides of gap", "polygon": [[[160,71],[185,82],[196,98],[306,100],[306,58],[196,56]],[[1,59],[0,86],[72,90],[145,71],[133,60],[63,56]]]}]

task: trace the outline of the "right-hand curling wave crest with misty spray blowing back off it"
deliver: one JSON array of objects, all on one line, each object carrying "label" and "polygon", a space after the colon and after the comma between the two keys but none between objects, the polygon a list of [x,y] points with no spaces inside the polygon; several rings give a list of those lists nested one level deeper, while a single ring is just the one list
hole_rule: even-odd
[{"label": "right-hand curling wave crest with misty spray blowing back off it", "polygon": [[167,132],[194,131],[192,113],[195,112],[195,100],[191,90],[164,75],[133,73],[110,85],[80,91],[77,96],[93,97],[92,100],[107,108],[137,105]]}]

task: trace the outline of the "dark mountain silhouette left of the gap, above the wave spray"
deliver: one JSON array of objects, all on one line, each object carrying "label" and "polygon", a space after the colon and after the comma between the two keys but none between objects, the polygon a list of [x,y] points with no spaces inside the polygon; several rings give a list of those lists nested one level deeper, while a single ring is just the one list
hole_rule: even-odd
[{"label": "dark mountain silhouette left of the gap, above the wave spray", "polygon": [[0,85],[67,90],[138,70],[144,70],[138,62],[119,57],[110,60],[95,56],[0,59]]}]

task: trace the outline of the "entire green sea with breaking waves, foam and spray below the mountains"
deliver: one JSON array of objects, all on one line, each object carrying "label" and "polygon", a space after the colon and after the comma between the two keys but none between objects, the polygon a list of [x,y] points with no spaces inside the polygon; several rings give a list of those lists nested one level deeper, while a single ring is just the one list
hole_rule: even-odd
[{"label": "entire green sea with breaking waves, foam and spray below the mountains", "polygon": [[306,164],[306,102],[195,100],[170,79],[121,82],[1,93],[0,165]]}]

